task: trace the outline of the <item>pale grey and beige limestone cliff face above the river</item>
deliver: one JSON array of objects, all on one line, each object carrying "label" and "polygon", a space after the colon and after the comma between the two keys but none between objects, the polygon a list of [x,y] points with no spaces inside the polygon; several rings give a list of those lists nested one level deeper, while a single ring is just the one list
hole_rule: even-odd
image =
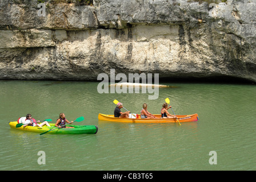
[{"label": "pale grey and beige limestone cliff face above the river", "polygon": [[[0,79],[99,73],[230,76],[256,82],[256,1],[0,2]],[[41,4],[39,4],[41,5]]]}]

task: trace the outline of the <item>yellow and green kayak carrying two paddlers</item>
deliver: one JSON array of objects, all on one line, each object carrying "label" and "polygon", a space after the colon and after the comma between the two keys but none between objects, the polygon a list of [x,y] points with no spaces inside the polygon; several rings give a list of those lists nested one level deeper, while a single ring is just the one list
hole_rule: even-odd
[{"label": "yellow and green kayak carrying two paddlers", "polygon": [[[42,128],[26,126],[26,127],[16,127],[18,124],[17,121],[9,122],[9,125],[12,129],[22,130],[22,131],[33,131],[37,133],[43,133],[50,130],[50,127],[43,126]],[[51,127],[53,127],[54,123],[49,123]],[[69,125],[74,128],[63,128],[49,131],[49,133],[54,134],[96,134],[98,132],[98,127],[95,125]]]}]

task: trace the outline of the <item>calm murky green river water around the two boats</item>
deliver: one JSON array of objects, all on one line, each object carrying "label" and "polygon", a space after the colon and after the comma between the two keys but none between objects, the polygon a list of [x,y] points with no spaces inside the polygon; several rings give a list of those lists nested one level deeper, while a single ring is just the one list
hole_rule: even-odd
[{"label": "calm murky green river water around the two boats", "polygon": [[[99,94],[99,82],[0,81],[1,170],[255,170],[256,86],[253,84],[166,83],[150,93]],[[156,91],[155,91],[156,92]],[[160,114],[169,97],[175,114],[199,115],[198,122],[119,123],[98,121],[113,114],[116,99],[139,113],[142,104]],[[123,110],[125,111],[125,110]],[[37,120],[97,125],[94,135],[54,135],[10,129],[9,122],[32,114]],[[171,110],[170,110],[171,113]],[[38,152],[46,164],[38,164]],[[209,155],[215,151],[210,164]],[[211,160],[212,161],[212,160]]]}]

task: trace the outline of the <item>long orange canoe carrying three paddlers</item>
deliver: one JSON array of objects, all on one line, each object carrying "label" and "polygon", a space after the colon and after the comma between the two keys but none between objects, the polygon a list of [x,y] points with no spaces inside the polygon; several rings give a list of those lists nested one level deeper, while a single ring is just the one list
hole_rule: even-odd
[{"label": "long orange canoe carrying three paddlers", "polygon": [[[128,122],[128,123],[175,123],[177,119],[175,118],[161,118],[161,114],[154,114],[156,118],[154,119],[141,119],[141,114],[138,118],[115,118],[114,115],[101,114],[99,113],[98,119],[102,121],[114,121],[114,122]],[[198,114],[190,115],[176,115],[179,122],[193,122],[198,121]]]}]

